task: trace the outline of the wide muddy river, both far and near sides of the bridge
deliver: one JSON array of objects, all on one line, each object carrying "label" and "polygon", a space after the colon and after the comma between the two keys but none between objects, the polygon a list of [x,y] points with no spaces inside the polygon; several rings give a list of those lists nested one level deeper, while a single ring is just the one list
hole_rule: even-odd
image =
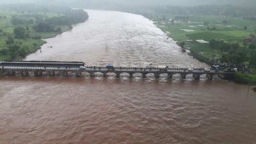
[{"label": "wide muddy river, both far and near sides of the bridge", "polygon": [[[208,67],[152,21],[86,10],[26,60]],[[0,144],[255,144],[256,94],[218,80],[0,76]]]}]

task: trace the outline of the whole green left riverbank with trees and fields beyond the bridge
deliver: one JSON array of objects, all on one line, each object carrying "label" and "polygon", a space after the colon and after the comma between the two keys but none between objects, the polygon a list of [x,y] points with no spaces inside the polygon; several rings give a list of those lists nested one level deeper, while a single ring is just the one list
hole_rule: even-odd
[{"label": "whole green left riverbank with trees and fields beyond the bridge", "polygon": [[72,29],[88,19],[87,12],[36,4],[0,6],[0,59],[23,59],[45,44],[45,38]]}]

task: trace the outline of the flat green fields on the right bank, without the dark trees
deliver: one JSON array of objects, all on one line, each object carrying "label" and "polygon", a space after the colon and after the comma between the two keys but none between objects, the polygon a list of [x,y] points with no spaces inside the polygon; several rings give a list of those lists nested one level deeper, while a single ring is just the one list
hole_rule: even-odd
[{"label": "flat green fields on the right bank, without the dark trees", "polygon": [[[157,16],[154,15],[154,17]],[[227,20],[226,24],[222,23],[224,20]],[[209,22],[209,25],[205,26],[205,21]],[[252,33],[256,34],[254,32],[254,30],[256,30],[256,21],[244,20],[241,17],[189,15],[189,20],[186,22],[175,20],[173,24],[171,21],[157,21],[156,24],[163,32],[170,32],[167,33],[167,35],[173,38],[174,41],[184,41],[186,48],[201,52],[202,55],[210,59],[219,59],[223,53],[220,50],[211,49],[209,44],[199,43],[195,40],[203,39],[209,42],[211,39],[219,39],[231,43],[238,42],[241,47],[244,47],[242,44],[243,39],[250,36]],[[247,26],[247,30],[244,30],[244,26]],[[211,30],[208,30],[207,27]],[[212,30],[213,27],[215,27],[214,30]],[[193,31],[186,32],[182,29]],[[251,53],[250,49],[246,49],[246,51],[248,54]]]}]

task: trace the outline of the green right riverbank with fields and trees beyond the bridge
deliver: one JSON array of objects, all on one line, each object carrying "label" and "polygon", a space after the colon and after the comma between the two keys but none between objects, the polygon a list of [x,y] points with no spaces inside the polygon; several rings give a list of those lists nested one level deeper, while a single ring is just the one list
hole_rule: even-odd
[{"label": "green right riverbank with fields and trees beyond the bridge", "polygon": [[[217,15],[165,15],[165,19],[161,17],[155,14],[149,18],[183,50],[189,50],[188,55],[200,62],[215,65],[221,62],[253,64],[255,61],[255,50],[251,45],[256,21]],[[252,25],[248,28],[245,24]],[[247,41],[248,38],[250,41]],[[235,82],[256,84],[254,77],[255,74],[237,74]]]}]

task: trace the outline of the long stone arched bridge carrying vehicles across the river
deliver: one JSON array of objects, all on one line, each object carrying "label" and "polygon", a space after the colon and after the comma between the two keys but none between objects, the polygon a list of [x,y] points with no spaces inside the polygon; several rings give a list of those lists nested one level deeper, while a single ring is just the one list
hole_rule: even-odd
[{"label": "long stone arched bridge carrying vehicles across the river", "polygon": [[126,73],[133,78],[136,74],[141,74],[142,78],[146,78],[146,75],[151,73],[154,74],[155,79],[159,79],[161,74],[167,74],[169,79],[175,74],[180,74],[182,79],[186,79],[188,74],[192,74],[194,79],[200,79],[201,75],[206,75],[209,80],[213,79],[213,76],[217,75],[219,78],[224,80],[233,80],[235,73],[214,70],[204,71],[203,68],[194,68],[193,71],[189,71],[187,68],[168,68],[168,69],[157,69],[157,68],[146,68],[146,67],[85,67],[84,69],[78,67],[59,67],[59,66],[4,66],[0,67],[0,75],[6,76],[63,76],[63,77],[85,77],[90,74],[90,77],[95,77],[97,73],[102,73],[103,77],[108,77],[109,73],[114,73],[116,78],[120,78],[120,75]]}]

